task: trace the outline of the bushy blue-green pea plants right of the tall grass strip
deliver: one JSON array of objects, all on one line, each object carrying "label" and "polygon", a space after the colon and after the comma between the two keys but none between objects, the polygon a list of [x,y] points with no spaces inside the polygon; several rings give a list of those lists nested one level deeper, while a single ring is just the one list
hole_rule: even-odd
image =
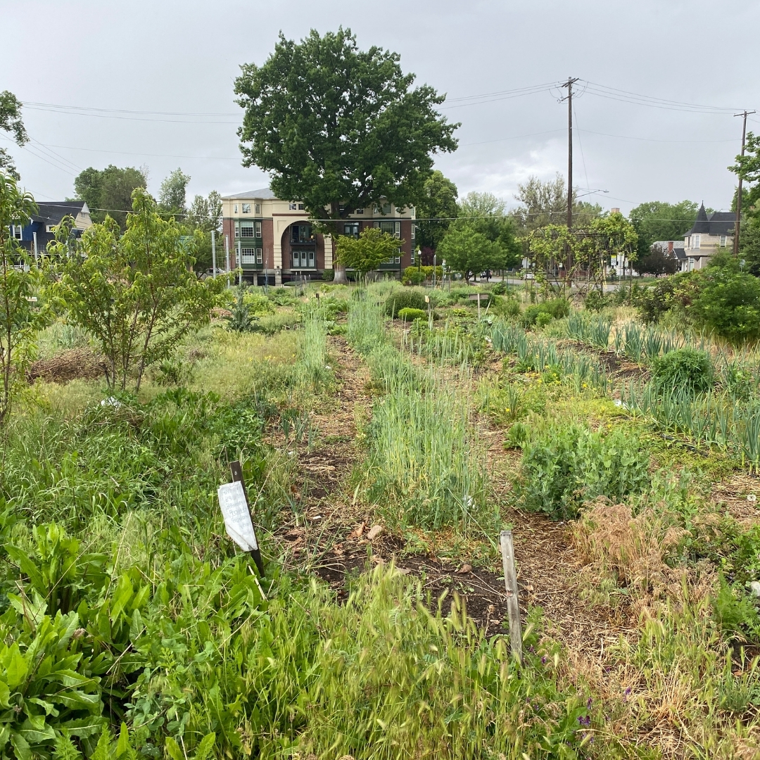
[{"label": "bushy blue-green pea plants right of the tall grass strip", "polygon": [[566,520],[597,496],[622,499],[640,491],[648,464],[641,443],[622,429],[604,435],[568,425],[524,444],[518,490],[527,509]]}]

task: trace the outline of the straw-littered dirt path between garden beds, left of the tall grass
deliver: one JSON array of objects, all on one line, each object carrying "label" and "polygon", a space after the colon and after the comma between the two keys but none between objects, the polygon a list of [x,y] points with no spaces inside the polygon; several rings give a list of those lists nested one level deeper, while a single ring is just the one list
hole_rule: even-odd
[{"label": "straw-littered dirt path between garden beds, left of the tall grass", "polygon": [[470,568],[466,559],[451,563],[432,554],[410,556],[399,538],[385,530],[375,534],[379,523],[363,505],[361,492],[354,499],[351,483],[353,467],[364,456],[359,428],[369,420],[372,409],[369,370],[343,337],[330,337],[328,349],[335,363],[336,394],[312,416],[312,425],[318,429],[316,445],[310,450],[306,443],[290,447],[298,461],[296,508],[277,530],[287,547],[286,566],[314,572],[340,598],[347,595],[347,576],[363,571],[368,563],[392,560],[401,572],[423,580],[432,607],[445,592],[455,592],[478,625],[492,634],[505,632],[501,575]]}]

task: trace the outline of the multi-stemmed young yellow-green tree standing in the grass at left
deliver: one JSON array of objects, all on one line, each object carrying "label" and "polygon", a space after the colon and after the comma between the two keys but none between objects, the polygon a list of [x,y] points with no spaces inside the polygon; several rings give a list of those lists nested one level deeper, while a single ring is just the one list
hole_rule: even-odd
[{"label": "multi-stemmed young yellow-green tree standing in the grass at left", "polygon": [[139,390],[150,364],[166,359],[179,341],[208,321],[214,288],[192,271],[195,241],[182,239],[175,220],[163,219],[144,188],[135,188],[127,230],[111,217],[85,230],[71,255],[65,225],[49,256],[58,280],[52,290],[68,307],[71,321],[100,344],[106,378]]}]

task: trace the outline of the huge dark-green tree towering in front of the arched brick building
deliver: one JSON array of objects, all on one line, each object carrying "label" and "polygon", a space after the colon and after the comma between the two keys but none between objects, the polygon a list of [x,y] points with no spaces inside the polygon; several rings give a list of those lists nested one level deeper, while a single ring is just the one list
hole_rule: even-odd
[{"label": "huge dark-green tree towering in front of the arched brick building", "polygon": [[[413,87],[399,61],[375,46],[360,50],[342,27],[312,30],[300,43],[280,34],[267,61],[243,65],[235,82],[243,166],[271,173],[274,194],[302,201],[334,237],[356,208],[418,204],[433,154],[456,149],[458,125],[435,109],[445,96]],[[340,264],[335,279],[346,281]]]}]

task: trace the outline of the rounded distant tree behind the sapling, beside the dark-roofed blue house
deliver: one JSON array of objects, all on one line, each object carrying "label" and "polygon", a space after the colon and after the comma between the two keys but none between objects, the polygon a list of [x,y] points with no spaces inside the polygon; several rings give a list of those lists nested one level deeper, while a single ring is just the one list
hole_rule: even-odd
[{"label": "rounded distant tree behind the sapling, beside the dark-roofed blue house", "polygon": [[122,230],[127,228],[135,188],[147,188],[147,177],[144,169],[134,166],[120,168],[109,164],[105,169],[89,166],[74,179],[74,193],[87,203],[93,222],[103,222],[109,216]]}]

